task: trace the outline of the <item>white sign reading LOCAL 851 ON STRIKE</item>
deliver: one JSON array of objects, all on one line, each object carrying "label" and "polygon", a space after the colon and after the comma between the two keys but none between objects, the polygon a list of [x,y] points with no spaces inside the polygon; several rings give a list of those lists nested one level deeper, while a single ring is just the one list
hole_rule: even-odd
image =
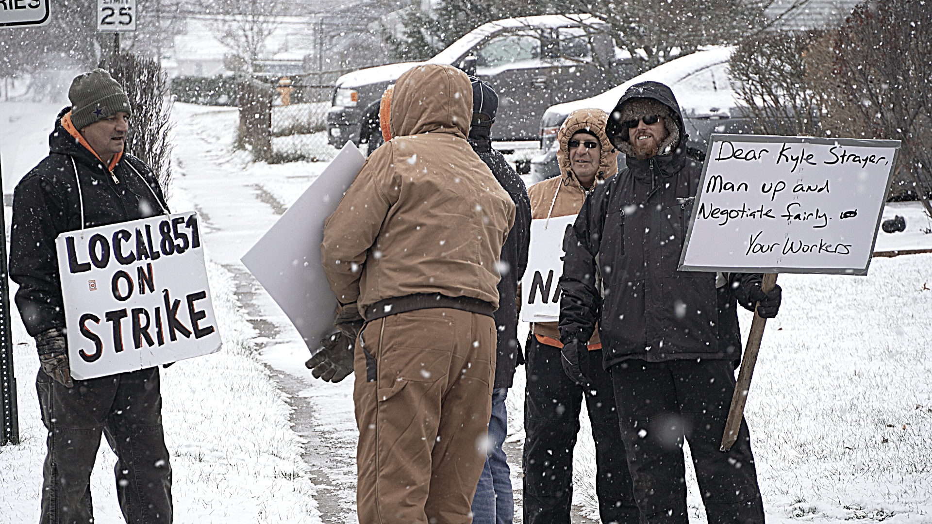
[{"label": "white sign reading LOCAL 851 ON STRIKE", "polygon": [[198,214],[68,231],[55,245],[75,379],[220,350]]}]

